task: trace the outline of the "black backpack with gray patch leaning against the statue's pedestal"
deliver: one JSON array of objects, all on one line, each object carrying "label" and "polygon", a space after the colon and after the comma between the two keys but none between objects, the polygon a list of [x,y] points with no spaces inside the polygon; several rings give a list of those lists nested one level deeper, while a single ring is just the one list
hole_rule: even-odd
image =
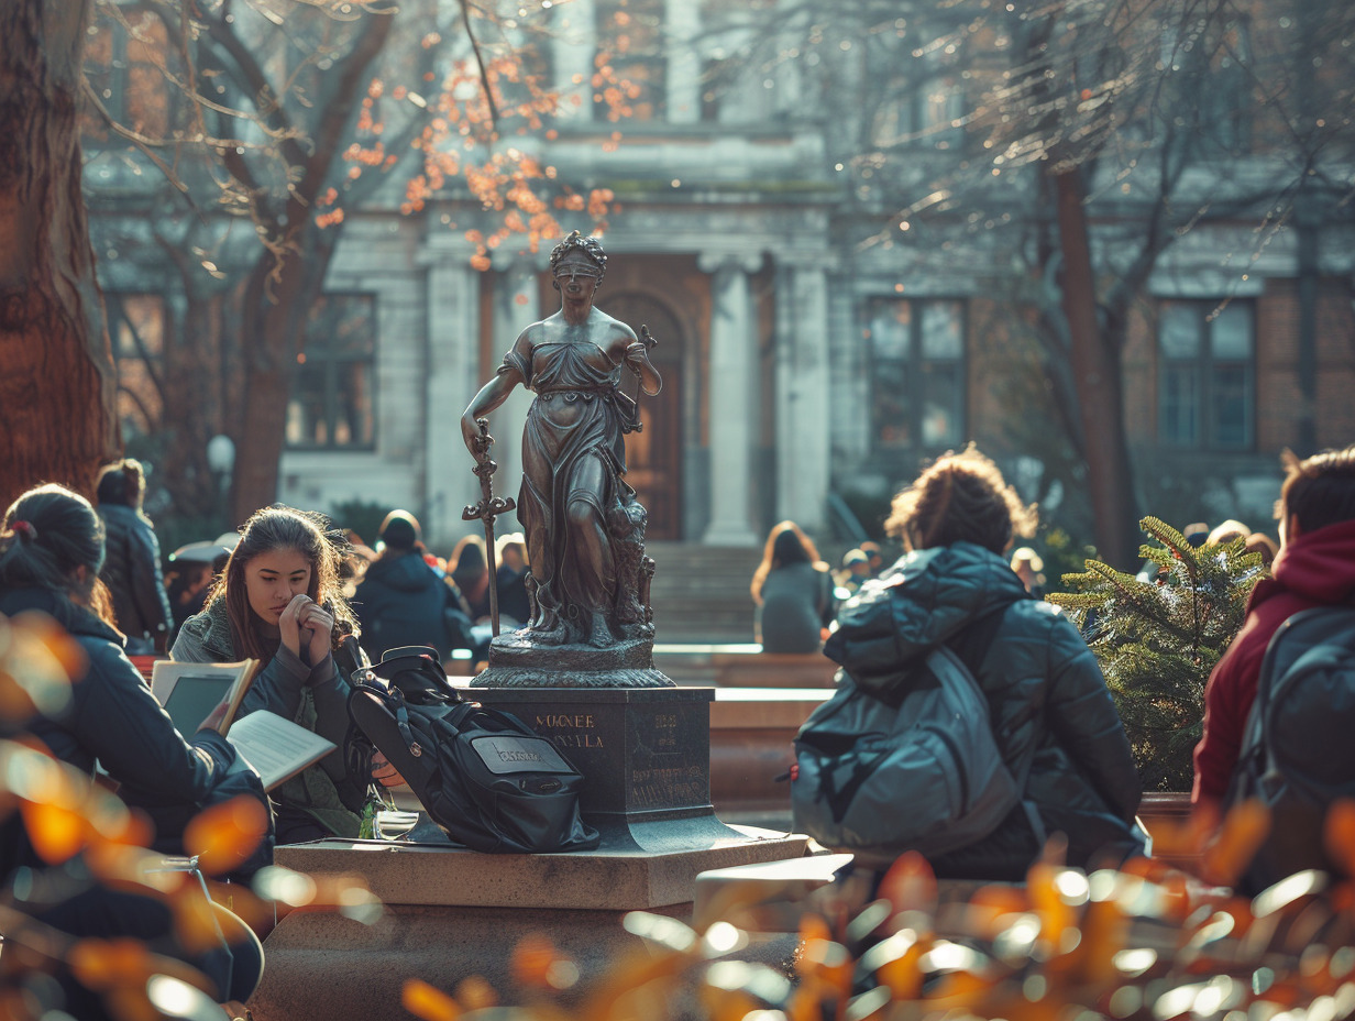
[{"label": "black backpack with gray patch leaning against the statue's pedestal", "polygon": [[599,845],[579,814],[583,774],[516,716],[462,701],[432,649],[392,649],[359,671],[348,713],[457,843],[507,854]]}]

